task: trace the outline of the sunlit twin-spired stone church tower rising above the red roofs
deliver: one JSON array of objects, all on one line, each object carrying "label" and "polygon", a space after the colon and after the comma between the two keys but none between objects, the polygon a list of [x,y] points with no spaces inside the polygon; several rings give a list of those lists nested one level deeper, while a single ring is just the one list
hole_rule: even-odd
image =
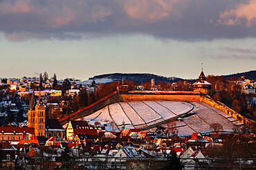
[{"label": "sunlit twin-spired stone church tower rising above the red roofs", "polygon": [[45,135],[45,115],[46,108],[39,94],[39,100],[35,105],[35,93],[33,92],[30,100],[30,108],[28,110],[28,127],[35,128],[35,136]]}]

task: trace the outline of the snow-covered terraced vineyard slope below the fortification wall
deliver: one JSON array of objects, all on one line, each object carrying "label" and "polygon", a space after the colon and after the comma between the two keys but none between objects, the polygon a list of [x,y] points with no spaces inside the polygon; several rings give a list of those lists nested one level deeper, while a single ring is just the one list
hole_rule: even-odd
[{"label": "snow-covered terraced vineyard slope below the fortification wall", "polygon": [[122,122],[125,128],[151,129],[156,125],[169,128],[167,121],[183,116],[183,121],[174,121],[172,127],[176,128],[179,136],[190,136],[194,132],[211,133],[211,125],[220,123],[223,132],[230,132],[242,125],[223,111],[201,102],[184,103],[174,101],[138,101],[114,103],[95,113],[85,116],[83,120],[89,123],[100,121],[109,122],[114,129],[120,131]]}]

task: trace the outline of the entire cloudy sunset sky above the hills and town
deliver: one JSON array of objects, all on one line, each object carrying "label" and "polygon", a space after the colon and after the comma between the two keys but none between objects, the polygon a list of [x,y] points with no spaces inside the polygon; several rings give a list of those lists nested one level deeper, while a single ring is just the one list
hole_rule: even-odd
[{"label": "entire cloudy sunset sky above the hills and town", "polygon": [[256,70],[256,0],[0,0],[0,77]]}]

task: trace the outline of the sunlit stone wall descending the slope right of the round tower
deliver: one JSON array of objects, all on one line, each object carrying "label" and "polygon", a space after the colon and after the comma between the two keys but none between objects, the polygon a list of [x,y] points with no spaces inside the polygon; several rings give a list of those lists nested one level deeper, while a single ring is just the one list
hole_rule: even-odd
[{"label": "sunlit stone wall descending the slope right of the round tower", "polygon": [[237,111],[230,109],[223,103],[220,103],[219,101],[215,102],[210,97],[201,96],[200,101],[212,107],[215,107],[216,109],[219,109],[220,111],[223,111],[226,114],[229,114],[230,116],[232,116],[233,118],[236,118],[237,120],[239,120],[241,123],[244,123],[244,125],[248,127],[250,127],[250,125],[253,125],[253,123],[255,123],[255,121],[245,118],[244,116],[241,116],[241,114],[237,113]]}]

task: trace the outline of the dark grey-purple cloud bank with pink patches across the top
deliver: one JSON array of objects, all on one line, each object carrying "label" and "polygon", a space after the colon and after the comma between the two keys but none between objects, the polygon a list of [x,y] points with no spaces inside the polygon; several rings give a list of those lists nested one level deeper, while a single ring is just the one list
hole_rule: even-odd
[{"label": "dark grey-purple cloud bank with pink patches across the top", "polygon": [[256,0],[3,0],[7,39],[81,39],[142,33],[165,39],[256,35]]}]

